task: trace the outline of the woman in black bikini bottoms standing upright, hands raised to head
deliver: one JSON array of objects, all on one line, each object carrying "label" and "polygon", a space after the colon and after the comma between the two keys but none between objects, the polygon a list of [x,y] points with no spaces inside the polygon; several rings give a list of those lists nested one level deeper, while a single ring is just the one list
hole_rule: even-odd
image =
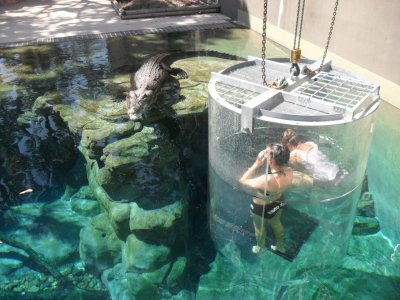
[{"label": "woman in black bikini bottoms standing upright, hands raised to head", "polygon": [[[258,191],[253,197],[250,211],[253,219],[257,245],[253,253],[265,249],[266,226],[274,231],[276,245],[271,249],[285,253],[284,228],[281,223],[283,192],[289,188],[293,180],[293,170],[287,166],[290,152],[286,146],[272,143],[262,150],[253,165],[242,175],[240,183]],[[267,172],[257,176],[257,170],[266,162]]]}]

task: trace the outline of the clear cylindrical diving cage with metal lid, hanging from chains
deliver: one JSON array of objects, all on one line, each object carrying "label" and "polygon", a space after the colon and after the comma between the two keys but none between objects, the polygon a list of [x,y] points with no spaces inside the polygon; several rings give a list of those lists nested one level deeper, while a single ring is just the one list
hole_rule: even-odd
[{"label": "clear cylindrical diving cage with metal lid, hanging from chains", "polygon": [[[302,73],[291,77],[289,60],[265,61],[267,81],[285,78],[281,89],[263,85],[259,58],[212,73],[210,232],[216,248],[235,263],[255,255],[250,203],[257,193],[244,188],[239,179],[268,143],[280,142],[286,129],[295,130],[301,141],[318,145],[337,173],[323,182],[293,167],[296,182],[284,193],[281,216],[286,251],[262,255],[270,258],[269,264],[274,259],[300,259],[303,265],[315,266],[335,264],[346,253],[380,104],[379,86],[332,66],[330,60],[302,62]],[[320,71],[303,74],[305,66]],[[265,167],[258,174],[263,172]],[[275,242],[268,229],[267,249]],[[287,274],[288,265],[278,263],[278,273],[279,266],[281,275]]]}]

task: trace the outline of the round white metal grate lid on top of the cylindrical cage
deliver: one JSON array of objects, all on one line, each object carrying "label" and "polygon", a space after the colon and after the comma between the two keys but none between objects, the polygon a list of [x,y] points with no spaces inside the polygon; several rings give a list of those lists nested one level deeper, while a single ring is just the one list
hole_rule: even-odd
[{"label": "round white metal grate lid on top of the cylindrical cage", "polygon": [[[308,67],[319,68],[310,61]],[[332,68],[327,60],[317,75],[291,77],[286,61],[266,61],[267,79],[286,78],[283,89],[271,89],[261,83],[261,60],[251,58],[213,73],[210,95],[220,104],[241,114],[242,129],[255,119],[288,124],[332,124],[351,122],[374,111],[380,102],[379,86],[358,79],[348,71]],[[293,123],[294,122],[294,123]]]}]

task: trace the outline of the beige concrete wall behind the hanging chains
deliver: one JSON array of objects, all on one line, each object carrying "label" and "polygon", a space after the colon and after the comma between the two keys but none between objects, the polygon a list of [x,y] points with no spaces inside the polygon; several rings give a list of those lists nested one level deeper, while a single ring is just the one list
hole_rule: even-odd
[{"label": "beige concrete wall behind the hanging chains", "polygon": [[[263,1],[221,0],[222,13],[262,32]],[[303,56],[321,59],[328,38],[335,0],[306,0],[301,49]],[[293,47],[297,1],[269,0],[267,36]],[[381,86],[384,100],[400,108],[400,1],[342,0],[328,57]]]}]

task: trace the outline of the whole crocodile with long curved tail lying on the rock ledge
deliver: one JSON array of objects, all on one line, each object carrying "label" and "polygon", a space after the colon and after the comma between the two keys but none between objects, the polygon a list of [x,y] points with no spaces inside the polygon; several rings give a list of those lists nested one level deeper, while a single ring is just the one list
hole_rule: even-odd
[{"label": "whole crocodile with long curved tail lying on the rock ledge", "polygon": [[231,60],[245,60],[236,55],[217,51],[177,51],[160,53],[150,57],[131,75],[131,88],[127,95],[128,115],[131,120],[143,119],[157,101],[157,94],[168,76],[188,78],[180,68],[171,68],[178,58],[213,56]]}]

